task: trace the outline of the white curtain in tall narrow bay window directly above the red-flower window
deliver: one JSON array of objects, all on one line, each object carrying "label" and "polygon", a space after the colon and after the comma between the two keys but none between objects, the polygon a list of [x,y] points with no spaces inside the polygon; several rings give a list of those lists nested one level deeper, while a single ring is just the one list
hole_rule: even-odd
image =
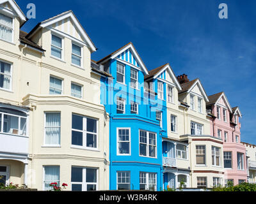
[{"label": "white curtain in tall narrow bay window directly above the red-flower window", "polygon": [[60,145],[60,113],[46,113],[45,145]]}]

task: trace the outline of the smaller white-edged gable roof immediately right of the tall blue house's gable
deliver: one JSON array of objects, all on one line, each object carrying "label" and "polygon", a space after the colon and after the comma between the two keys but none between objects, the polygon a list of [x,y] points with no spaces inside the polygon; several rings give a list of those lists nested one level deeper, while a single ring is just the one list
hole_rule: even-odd
[{"label": "smaller white-edged gable roof immediately right of the tall blue house's gable", "polygon": [[174,73],[173,73],[173,70],[172,70],[172,68],[171,68],[171,66],[170,66],[169,63],[166,63],[166,64],[164,64],[164,65],[162,65],[162,66],[159,66],[159,67],[156,68],[156,69],[150,70],[149,73],[148,73],[148,75],[144,77],[144,80],[148,80],[148,79],[150,79],[150,78],[157,78],[157,77],[159,77],[159,75],[161,75],[161,73],[163,73],[163,71],[165,71],[166,69],[170,72],[170,75],[171,75],[171,77],[172,77],[172,80],[173,80],[173,81],[175,82],[175,84],[177,85],[178,90],[181,91],[182,88],[181,88],[181,86],[180,86],[180,83],[179,83],[179,81],[177,80],[177,78],[175,77],[175,75],[174,75]]}]

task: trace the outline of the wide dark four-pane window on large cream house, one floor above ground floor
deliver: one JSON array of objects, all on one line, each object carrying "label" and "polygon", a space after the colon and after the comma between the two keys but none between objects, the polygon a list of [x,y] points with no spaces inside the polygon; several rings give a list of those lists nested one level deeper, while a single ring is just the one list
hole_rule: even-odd
[{"label": "wide dark four-pane window on large cream house, one floor above ground floor", "polygon": [[72,145],[97,149],[98,121],[72,114]]}]

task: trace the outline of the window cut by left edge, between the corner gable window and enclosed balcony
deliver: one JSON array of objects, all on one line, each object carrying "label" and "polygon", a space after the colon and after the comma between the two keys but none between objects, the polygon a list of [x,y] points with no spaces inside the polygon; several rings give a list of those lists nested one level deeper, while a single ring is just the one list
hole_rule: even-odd
[{"label": "window cut by left edge, between the corner gable window and enclosed balcony", "polygon": [[0,61],[0,88],[11,90],[12,73],[11,64]]}]

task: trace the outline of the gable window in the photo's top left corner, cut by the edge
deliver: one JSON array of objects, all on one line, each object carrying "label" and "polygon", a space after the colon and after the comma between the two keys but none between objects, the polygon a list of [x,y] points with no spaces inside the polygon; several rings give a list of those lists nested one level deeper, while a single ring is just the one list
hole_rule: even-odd
[{"label": "gable window in the photo's top left corner, cut by the edge", "polygon": [[0,13],[0,39],[13,41],[13,18]]}]

